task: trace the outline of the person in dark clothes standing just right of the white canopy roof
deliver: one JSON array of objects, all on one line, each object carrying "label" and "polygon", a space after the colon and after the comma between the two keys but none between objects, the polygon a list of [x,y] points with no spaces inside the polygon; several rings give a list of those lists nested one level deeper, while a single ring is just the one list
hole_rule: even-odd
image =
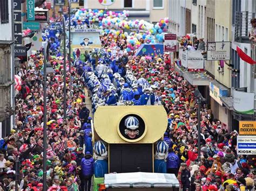
[{"label": "person in dark clothes standing just right of the white canopy roof", "polygon": [[187,164],[185,162],[181,162],[180,164],[177,179],[179,180],[183,191],[190,189],[190,172],[188,171]]}]

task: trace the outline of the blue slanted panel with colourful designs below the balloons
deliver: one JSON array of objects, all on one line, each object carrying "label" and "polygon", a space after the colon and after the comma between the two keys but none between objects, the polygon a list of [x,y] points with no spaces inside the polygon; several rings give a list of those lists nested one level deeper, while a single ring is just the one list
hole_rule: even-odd
[{"label": "blue slanted panel with colourful designs below the balloons", "polygon": [[142,44],[137,52],[138,55],[148,55],[148,56],[156,56],[157,54],[164,53],[164,45],[163,44]]}]

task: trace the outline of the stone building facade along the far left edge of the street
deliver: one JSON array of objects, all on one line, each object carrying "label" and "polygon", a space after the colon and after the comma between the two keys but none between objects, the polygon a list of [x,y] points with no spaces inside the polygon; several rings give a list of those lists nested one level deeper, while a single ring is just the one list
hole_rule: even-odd
[{"label": "stone building facade along the far left edge of the street", "polygon": [[12,84],[14,39],[12,39],[12,6],[9,0],[0,4],[0,137],[10,134],[14,114]]}]

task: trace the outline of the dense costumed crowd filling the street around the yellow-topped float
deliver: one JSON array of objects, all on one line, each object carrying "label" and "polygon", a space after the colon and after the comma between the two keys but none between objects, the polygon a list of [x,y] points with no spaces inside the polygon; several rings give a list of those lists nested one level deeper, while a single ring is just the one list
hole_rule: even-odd
[{"label": "dense costumed crowd filling the street around the yellow-topped float", "polygon": [[[47,184],[49,190],[90,190],[95,174],[90,111],[100,105],[163,105],[168,116],[164,134],[164,165],[157,173],[173,173],[183,190],[254,190],[254,160],[237,155],[237,131],[230,132],[206,104],[198,110],[196,87],[174,70],[169,54],[135,56],[127,51],[127,38],[104,32],[100,37],[103,58],[74,54],[63,102],[61,23],[52,22],[43,38],[50,43],[47,102],[43,102],[43,55],[30,55],[19,71],[21,88],[16,95],[15,127],[0,140],[0,190],[15,190],[15,164],[19,164],[19,190],[43,189],[43,111],[47,108]],[[139,39],[143,42],[143,38]],[[202,43],[202,42],[200,42]],[[199,44],[200,45],[200,44]],[[201,44],[198,47],[203,47]],[[82,53],[83,54],[83,53]],[[68,66],[68,65],[67,65]],[[69,71],[69,67],[66,68]],[[71,77],[70,77],[71,76]],[[85,89],[90,97],[85,96]],[[66,119],[64,119],[66,107]],[[198,112],[201,132],[198,133]],[[198,159],[198,136],[201,158]],[[160,152],[160,151],[159,151]],[[103,174],[104,175],[104,174]]]}]

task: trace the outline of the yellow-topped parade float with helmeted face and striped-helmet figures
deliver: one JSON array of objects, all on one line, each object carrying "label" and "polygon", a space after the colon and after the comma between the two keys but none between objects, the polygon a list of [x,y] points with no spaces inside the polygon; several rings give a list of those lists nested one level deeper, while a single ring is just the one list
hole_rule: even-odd
[{"label": "yellow-topped parade float with helmeted face and striped-helmet figures", "polygon": [[166,126],[161,105],[98,107],[91,125],[94,189],[178,190],[174,174],[156,173],[168,153]]}]

